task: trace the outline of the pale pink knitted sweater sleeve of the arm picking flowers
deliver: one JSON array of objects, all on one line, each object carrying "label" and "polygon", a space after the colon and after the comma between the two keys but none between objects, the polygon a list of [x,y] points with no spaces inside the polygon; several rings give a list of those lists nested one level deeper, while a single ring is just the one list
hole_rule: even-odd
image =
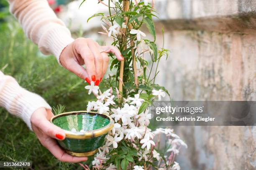
[{"label": "pale pink knitted sweater sleeve of the arm picking flowers", "polygon": [[59,62],[62,50],[74,39],[56,17],[47,0],[8,0],[10,12],[18,19],[27,37],[43,54],[53,54]]}]

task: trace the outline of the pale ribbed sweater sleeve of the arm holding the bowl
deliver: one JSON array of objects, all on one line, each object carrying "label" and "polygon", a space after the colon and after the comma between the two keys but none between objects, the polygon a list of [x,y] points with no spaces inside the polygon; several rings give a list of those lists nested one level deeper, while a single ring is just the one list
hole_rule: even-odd
[{"label": "pale ribbed sweater sleeve of the arm holding the bowl", "polygon": [[31,115],[33,112],[41,107],[51,110],[51,107],[39,95],[20,87],[13,77],[6,76],[6,78],[5,86],[0,92],[0,104],[8,112],[23,119],[32,130]]}]

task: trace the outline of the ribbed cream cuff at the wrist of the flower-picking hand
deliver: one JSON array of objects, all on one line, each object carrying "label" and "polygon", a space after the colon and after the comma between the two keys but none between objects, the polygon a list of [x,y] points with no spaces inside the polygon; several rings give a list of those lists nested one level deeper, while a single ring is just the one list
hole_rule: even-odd
[{"label": "ribbed cream cuff at the wrist of the flower-picking hand", "polygon": [[42,35],[38,42],[38,47],[44,54],[54,54],[60,64],[59,56],[62,50],[73,41],[74,39],[71,37],[70,31],[66,27],[51,23],[49,24],[49,29],[44,32],[44,35]]}]

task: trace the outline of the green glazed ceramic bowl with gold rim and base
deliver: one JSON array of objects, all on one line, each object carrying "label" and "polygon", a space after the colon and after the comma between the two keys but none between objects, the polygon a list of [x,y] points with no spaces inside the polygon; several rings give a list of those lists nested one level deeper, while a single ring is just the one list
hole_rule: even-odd
[{"label": "green glazed ceramic bowl with gold rim and base", "polygon": [[51,118],[51,122],[66,133],[59,145],[73,156],[90,156],[97,153],[105,136],[113,128],[114,121],[109,115],[97,112],[66,112]]}]

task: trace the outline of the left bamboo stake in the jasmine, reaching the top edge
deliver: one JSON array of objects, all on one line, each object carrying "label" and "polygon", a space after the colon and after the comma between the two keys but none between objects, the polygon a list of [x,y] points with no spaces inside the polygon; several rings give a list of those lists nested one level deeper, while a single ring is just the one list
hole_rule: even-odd
[{"label": "left bamboo stake in the jasmine, reaching the top edge", "polygon": [[[124,11],[129,11],[129,7],[130,7],[130,1],[129,0],[123,0],[123,10]],[[128,23],[128,18],[125,17],[125,25],[127,25]],[[126,28],[123,28],[123,32],[126,32]],[[123,35],[123,41],[125,41],[125,36]],[[124,50],[126,49],[126,47],[124,48]],[[124,60],[121,61],[120,63],[120,73],[119,73],[119,93],[120,93],[120,96],[119,96],[119,102],[121,101],[120,100],[120,97],[122,97],[121,95],[123,94],[123,69],[124,69]]]}]

